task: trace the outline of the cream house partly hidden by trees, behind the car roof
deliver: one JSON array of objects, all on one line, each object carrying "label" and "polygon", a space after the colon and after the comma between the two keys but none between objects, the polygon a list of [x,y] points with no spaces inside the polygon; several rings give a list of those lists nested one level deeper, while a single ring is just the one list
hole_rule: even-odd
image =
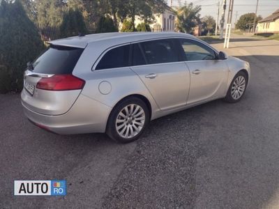
[{"label": "cream house partly hidden by trees, behind the car roof", "polygon": [[[174,31],[174,20],[176,18],[176,14],[174,10],[167,6],[165,11],[160,14],[155,14],[155,21],[153,24],[150,24],[151,31],[158,32],[158,31]],[[136,18],[135,26],[137,24],[142,23],[143,21],[140,18]]]}]

